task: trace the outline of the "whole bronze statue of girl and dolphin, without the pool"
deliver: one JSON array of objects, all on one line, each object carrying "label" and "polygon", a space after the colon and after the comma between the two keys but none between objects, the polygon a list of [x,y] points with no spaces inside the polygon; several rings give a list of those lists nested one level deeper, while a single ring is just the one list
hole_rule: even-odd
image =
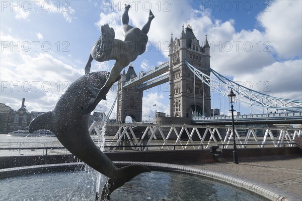
[{"label": "whole bronze statue of girl and dolphin, without the pool", "polygon": [[[85,75],[68,87],[52,111],[36,117],[29,126],[29,132],[39,129],[51,130],[74,156],[109,177],[104,185],[101,199],[109,198],[112,191],[136,175],[150,171],[142,165],[117,168],[96,146],[88,131],[90,113],[102,99],[106,100],[106,94],[114,82],[120,79],[120,72],[123,68],[145,51],[148,40],[146,34],[154,15],[151,11],[149,12],[148,21],[140,30],[128,25],[129,9],[130,5],[125,5],[122,15],[124,41],[114,39],[114,30],[108,24],[102,26],[102,35],[93,46],[85,67]],[[115,60],[116,62],[110,73],[90,73],[92,60],[99,62]],[[97,192],[97,199],[98,196]]]}]

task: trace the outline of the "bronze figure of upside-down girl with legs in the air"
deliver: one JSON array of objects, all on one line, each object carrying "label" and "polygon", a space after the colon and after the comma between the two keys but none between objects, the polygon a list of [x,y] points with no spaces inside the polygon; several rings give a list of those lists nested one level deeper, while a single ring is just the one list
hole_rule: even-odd
[{"label": "bronze figure of upside-down girl with legs in the air", "polygon": [[138,28],[133,28],[132,26],[128,25],[129,9],[130,5],[126,5],[125,12],[122,15],[122,31],[124,41],[114,39],[114,30],[110,28],[108,24],[106,24],[101,27],[102,35],[92,48],[89,60],[85,67],[86,74],[90,72],[91,62],[93,60],[98,62],[115,60],[116,62],[111,69],[108,80],[106,81],[104,87],[100,90],[97,97],[90,101],[87,106],[85,106],[84,109],[86,111],[93,111],[102,99],[106,100],[106,94],[113,85],[114,81],[120,75],[121,71],[128,66],[130,62],[134,61],[138,55],[144,53],[146,49],[146,44],[148,42],[147,33],[149,32],[151,22],[155,17],[153,13],[149,11],[148,21],[143,28],[141,30]]}]

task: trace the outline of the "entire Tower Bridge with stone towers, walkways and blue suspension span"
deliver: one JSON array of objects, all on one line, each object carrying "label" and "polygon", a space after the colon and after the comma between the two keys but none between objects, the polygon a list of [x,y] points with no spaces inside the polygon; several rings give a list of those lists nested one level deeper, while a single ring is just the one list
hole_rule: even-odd
[{"label": "entire Tower Bridge with stone towers, walkways and blue suspension span", "polygon": [[[168,61],[138,74],[130,65],[118,82],[117,122],[125,122],[126,116],[140,122],[143,91],[163,83],[169,83],[170,117],[191,118],[201,124],[230,124],[228,116],[211,117],[210,93],[217,91],[225,97],[232,89],[238,102],[250,106],[249,115],[235,116],[236,124],[302,122],[301,100],[272,97],[225,78],[210,68],[209,49],[207,36],[200,46],[192,28],[187,25],[179,39],[173,39],[171,35]],[[262,107],[265,112],[252,114],[252,107]],[[269,109],[277,113],[268,113]]]}]

